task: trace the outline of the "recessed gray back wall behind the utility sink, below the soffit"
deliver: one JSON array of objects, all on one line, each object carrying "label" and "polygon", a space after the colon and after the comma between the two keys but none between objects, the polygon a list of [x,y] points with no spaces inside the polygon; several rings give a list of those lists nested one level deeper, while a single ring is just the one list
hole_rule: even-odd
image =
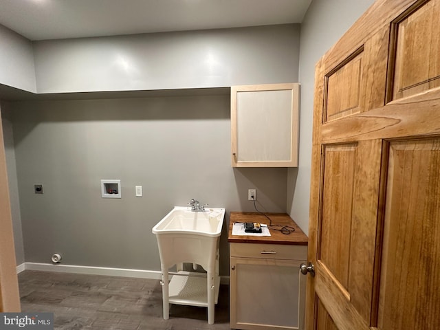
[{"label": "recessed gray back wall behind the utility sink, below the soffit", "polygon": [[[153,225],[191,198],[285,212],[287,169],[230,166],[230,96],[8,102],[26,261],[159,270]],[[100,179],[121,179],[102,199]],[[44,185],[36,195],[34,184]],[[135,197],[135,186],[144,197]],[[227,221],[221,274],[228,274]]]}]

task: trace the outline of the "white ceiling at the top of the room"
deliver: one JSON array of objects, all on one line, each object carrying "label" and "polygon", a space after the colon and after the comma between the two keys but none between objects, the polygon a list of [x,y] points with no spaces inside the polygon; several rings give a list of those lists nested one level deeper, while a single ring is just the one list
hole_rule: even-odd
[{"label": "white ceiling at the top of the room", "polygon": [[30,40],[301,23],[311,0],[0,0]]}]

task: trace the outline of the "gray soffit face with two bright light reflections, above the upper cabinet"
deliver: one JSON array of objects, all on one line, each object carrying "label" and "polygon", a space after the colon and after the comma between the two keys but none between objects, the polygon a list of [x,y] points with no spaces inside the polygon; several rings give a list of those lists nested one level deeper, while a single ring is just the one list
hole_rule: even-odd
[{"label": "gray soffit face with two bright light reflections, above the upper cabinet", "polygon": [[298,24],[34,43],[39,93],[296,83]]}]

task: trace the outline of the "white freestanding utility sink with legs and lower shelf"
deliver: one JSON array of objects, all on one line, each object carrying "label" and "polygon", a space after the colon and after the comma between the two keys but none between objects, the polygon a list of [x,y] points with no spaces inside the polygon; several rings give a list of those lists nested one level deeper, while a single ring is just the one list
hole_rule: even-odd
[{"label": "white freestanding utility sink with legs and lower shelf", "polygon": [[[208,307],[208,323],[214,324],[214,304],[219,297],[219,241],[224,208],[193,211],[175,206],[153,227],[159,248],[162,272],[164,319],[169,318],[169,304]],[[200,273],[184,272],[182,263],[201,265]],[[177,265],[177,274],[169,281],[168,270]],[[195,267],[196,269],[196,267]]]}]

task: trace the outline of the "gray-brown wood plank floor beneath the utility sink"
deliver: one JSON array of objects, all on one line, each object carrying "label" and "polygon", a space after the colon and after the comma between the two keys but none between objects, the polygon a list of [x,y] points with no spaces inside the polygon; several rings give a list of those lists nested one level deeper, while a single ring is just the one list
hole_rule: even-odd
[{"label": "gray-brown wood plank floor beneath the utility sink", "polygon": [[22,311],[53,312],[60,330],[230,329],[227,285],[220,287],[214,325],[206,307],[170,305],[164,320],[157,280],[26,270],[19,287]]}]

